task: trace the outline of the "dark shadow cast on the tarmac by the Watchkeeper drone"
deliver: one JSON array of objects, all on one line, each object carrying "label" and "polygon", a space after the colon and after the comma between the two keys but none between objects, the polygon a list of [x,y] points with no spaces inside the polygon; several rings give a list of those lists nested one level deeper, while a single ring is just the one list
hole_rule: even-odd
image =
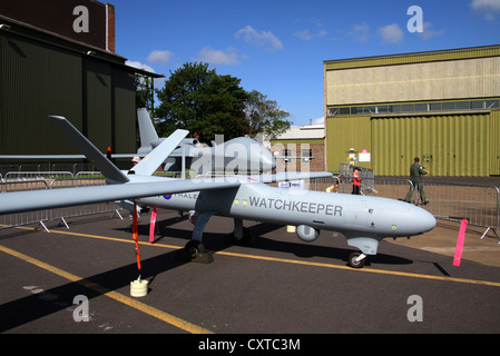
[{"label": "dark shadow cast on the tarmac by the Watchkeeper drone", "polygon": [[[192,229],[186,229],[183,227],[176,228],[171,225],[182,222],[186,218],[170,218],[166,220],[158,221],[158,228],[161,234],[157,234],[155,243],[164,239],[165,237],[175,237],[182,240],[188,241],[192,238]],[[322,257],[333,260],[342,260],[347,265],[347,256],[352,249],[332,247],[332,246],[318,246],[310,245],[306,243],[293,243],[293,241],[281,241],[272,238],[264,237],[266,234],[272,234],[275,230],[283,228],[280,225],[273,224],[256,224],[248,228],[249,233],[256,237],[255,246],[248,246],[251,249],[263,250],[263,251],[276,251],[291,254],[301,258],[314,258]],[[118,230],[129,231],[131,227],[119,228]],[[139,236],[149,235],[149,222],[143,221],[138,226]],[[204,244],[206,248],[213,251],[223,251],[232,246],[234,246],[234,240],[229,238],[229,234],[215,234],[205,233]],[[239,245],[244,246],[244,245]],[[151,258],[141,260],[141,278],[149,280],[149,286],[154,283],[156,276],[161,273],[168,271],[170,269],[177,268],[189,260],[182,258],[183,254],[180,250],[171,250]],[[375,256],[370,256],[366,265],[370,266],[370,261],[380,265],[409,265],[413,264],[412,260],[406,258],[401,258],[396,256],[378,254]],[[42,318],[52,313],[69,308],[73,306],[72,299],[76,295],[85,295],[88,299],[98,297],[107,291],[117,290],[126,287],[130,284],[130,276],[137,275],[137,264],[134,261],[126,266],[115,268],[85,279],[80,279],[75,283],[68,283],[63,286],[46,290],[47,295],[58,296],[57,300],[52,303],[47,303],[39,295],[30,295],[17,300],[9,301],[7,304],[0,305],[0,333],[16,328],[23,324],[33,322],[38,318]],[[102,287],[102,290],[95,290],[89,287],[89,284],[97,284]],[[95,286],[95,285],[94,285]]]}]

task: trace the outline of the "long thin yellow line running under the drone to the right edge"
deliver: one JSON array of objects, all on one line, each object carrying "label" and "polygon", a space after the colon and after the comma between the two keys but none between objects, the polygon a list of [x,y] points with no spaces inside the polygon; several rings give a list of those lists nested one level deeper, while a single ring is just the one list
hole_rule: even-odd
[{"label": "long thin yellow line running under the drone to the right edge", "polygon": [[[26,228],[26,227],[20,227],[20,228],[30,229],[30,228]],[[80,237],[90,237],[90,238],[105,239],[105,240],[119,241],[119,243],[135,244],[135,241],[133,239],[127,240],[127,239],[116,238],[116,237],[80,234],[80,233],[72,233],[72,231],[52,230],[52,233],[53,234],[62,234],[62,235],[71,235],[71,236],[80,236]],[[150,243],[139,241],[139,244],[145,245],[145,246],[158,247],[158,248],[169,248],[169,249],[184,248],[183,246],[166,245],[166,244],[159,244],[159,243],[150,244]],[[423,274],[396,271],[396,270],[372,269],[372,268],[352,268],[349,266],[333,265],[333,264],[326,264],[326,263],[314,263],[314,261],[306,261],[306,260],[266,257],[266,256],[257,256],[257,255],[248,255],[248,254],[229,253],[229,251],[217,251],[217,253],[215,253],[215,255],[232,256],[232,257],[238,257],[238,258],[249,258],[249,259],[256,259],[256,260],[276,261],[276,263],[293,264],[293,265],[315,266],[315,267],[332,268],[332,269],[343,269],[343,270],[349,270],[352,273],[391,275],[391,276],[400,276],[400,277],[410,277],[410,278],[432,279],[432,280],[454,281],[454,283],[462,283],[462,284],[470,284],[470,285],[483,285],[483,286],[491,286],[491,287],[500,287],[499,281],[489,281],[489,280],[480,280],[480,279],[433,276],[433,275],[423,275]]]}]

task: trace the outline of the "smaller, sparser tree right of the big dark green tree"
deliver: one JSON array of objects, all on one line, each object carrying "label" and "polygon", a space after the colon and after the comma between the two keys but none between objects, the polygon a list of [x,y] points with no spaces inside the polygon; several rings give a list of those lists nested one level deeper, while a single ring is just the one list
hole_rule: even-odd
[{"label": "smaller, sparser tree right of the big dark green tree", "polygon": [[267,96],[256,90],[248,93],[245,113],[248,122],[247,134],[251,137],[264,134],[266,139],[272,139],[285,132],[292,125],[286,120],[288,112],[280,109],[275,100],[267,100]]}]

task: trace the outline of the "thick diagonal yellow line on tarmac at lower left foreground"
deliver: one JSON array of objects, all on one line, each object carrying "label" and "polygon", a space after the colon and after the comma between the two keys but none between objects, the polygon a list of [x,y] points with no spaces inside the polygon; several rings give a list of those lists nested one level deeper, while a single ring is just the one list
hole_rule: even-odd
[{"label": "thick diagonal yellow line on tarmac at lower left foreground", "polygon": [[137,309],[139,312],[146,313],[146,314],[148,314],[148,315],[150,315],[150,316],[153,316],[153,317],[155,317],[157,319],[160,319],[160,320],[163,320],[163,322],[165,322],[167,324],[174,325],[175,327],[178,327],[178,328],[180,328],[180,329],[183,329],[185,332],[188,332],[188,333],[192,333],[192,334],[213,334],[208,329],[205,329],[203,327],[194,325],[194,324],[192,324],[189,322],[183,320],[183,319],[180,319],[180,318],[178,318],[178,317],[176,317],[174,315],[170,315],[170,314],[165,313],[165,312],[163,312],[160,309],[154,308],[154,307],[151,307],[151,306],[149,306],[147,304],[144,304],[141,301],[138,301],[136,299],[133,299],[133,298],[129,298],[127,296],[124,296],[120,293],[110,290],[110,289],[108,289],[108,288],[106,288],[106,287],[104,287],[101,285],[98,285],[98,284],[96,284],[94,281],[90,281],[88,279],[84,279],[81,277],[78,277],[78,276],[76,276],[73,274],[70,274],[70,273],[68,273],[66,270],[62,270],[60,268],[57,268],[57,267],[51,266],[49,264],[46,264],[46,263],[43,263],[43,261],[41,261],[39,259],[36,259],[36,258],[32,258],[32,257],[30,257],[28,255],[18,253],[18,251],[16,251],[13,249],[10,249],[10,248],[1,246],[1,245],[0,245],[0,250],[6,253],[6,254],[8,254],[8,255],[13,256],[13,257],[20,258],[20,259],[22,259],[22,260],[24,260],[24,261],[27,261],[27,263],[29,263],[31,265],[35,265],[37,267],[40,267],[40,268],[45,269],[45,270],[48,270],[48,271],[50,271],[52,274],[61,276],[61,277],[63,277],[66,279],[69,279],[69,280],[75,281],[75,283],[78,283],[78,284],[82,285],[84,287],[87,287],[87,288],[92,289],[92,290],[95,290],[95,291],[97,291],[97,293],[99,293],[99,294],[101,294],[104,296],[107,296],[107,297],[109,297],[111,299],[115,299],[115,300],[117,300],[119,303],[128,305],[129,307],[133,307],[133,308],[135,308],[135,309]]}]

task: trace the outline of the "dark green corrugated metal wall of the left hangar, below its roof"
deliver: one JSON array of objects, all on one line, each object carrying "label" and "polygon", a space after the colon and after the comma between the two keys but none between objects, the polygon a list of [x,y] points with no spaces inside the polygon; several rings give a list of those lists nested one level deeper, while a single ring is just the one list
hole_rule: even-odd
[{"label": "dark green corrugated metal wall of the left hangar, below its roof", "polygon": [[0,155],[80,154],[48,115],[104,152],[136,151],[133,73],[45,41],[0,32]]}]

